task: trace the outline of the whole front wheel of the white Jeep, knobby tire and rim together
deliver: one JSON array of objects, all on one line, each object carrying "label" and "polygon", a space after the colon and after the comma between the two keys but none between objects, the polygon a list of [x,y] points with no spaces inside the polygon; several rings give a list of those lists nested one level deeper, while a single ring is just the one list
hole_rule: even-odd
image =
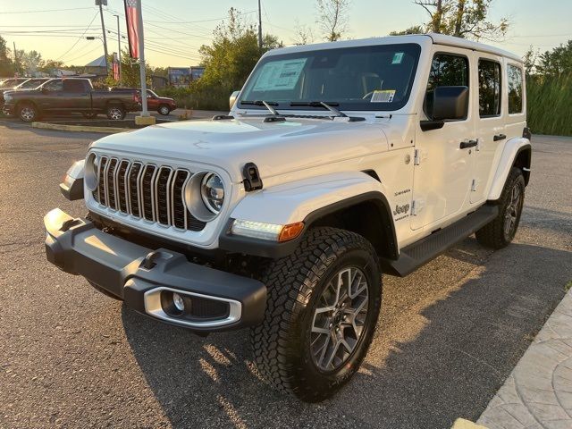
[{"label": "whole front wheel of the white Jeep, knobby tire and rim together", "polygon": [[382,299],[374,248],[353,232],[315,228],[262,280],[265,321],[251,331],[259,373],[300,400],[331,397],[373,339]]}]

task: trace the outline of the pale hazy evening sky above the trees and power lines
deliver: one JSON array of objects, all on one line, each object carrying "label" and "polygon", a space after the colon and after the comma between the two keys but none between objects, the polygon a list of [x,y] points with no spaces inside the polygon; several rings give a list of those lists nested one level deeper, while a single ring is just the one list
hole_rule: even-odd
[{"label": "pale hazy evening sky above the trees and power lines", "polygon": [[[117,51],[117,19],[125,36],[123,1],[104,6],[109,53]],[[321,41],[315,24],[314,0],[262,0],[263,31],[292,45],[296,23],[307,26]],[[147,63],[154,67],[198,65],[198,48],[212,40],[213,29],[234,7],[252,23],[257,0],[143,0]],[[67,10],[63,10],[67,9]],[[491,43],[517,55],[529,46],[541,52],[572,39],[572,0],[493,0],[490,20],[508,18],[507,38]],[[345,38],[385,36],[427,21],[413,0],[352,0]],[[101,21],[94,0],[0,0],[0,36],[9,47],[36,50],[44,59],[83,65],[103,55]],[[122,38],[122,46],[126,39]]]}]

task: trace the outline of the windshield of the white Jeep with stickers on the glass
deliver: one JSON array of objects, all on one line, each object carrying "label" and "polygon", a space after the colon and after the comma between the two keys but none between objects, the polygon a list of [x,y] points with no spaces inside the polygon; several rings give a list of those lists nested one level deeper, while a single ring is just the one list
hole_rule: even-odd
[{"label": "windshield of the white Jeep with stickers on the glass", "polygon": [[[397,110],[408,102],[421,47],[357,46],[269,55],[242,91],[244,108],[264,100],[277,110],[337,105],[340,110]],[[323,109],[323,107],[321,107]]]}]

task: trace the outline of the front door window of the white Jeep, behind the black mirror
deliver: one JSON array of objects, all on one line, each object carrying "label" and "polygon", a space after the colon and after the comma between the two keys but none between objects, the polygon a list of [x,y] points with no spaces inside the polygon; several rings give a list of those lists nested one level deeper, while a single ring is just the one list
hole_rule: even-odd
[{"label": "front door window of the white Jeep, behind the black mirror", "polygon": [[437,54],[433,57],[424,103],[428,118],[433,117],[433,90],[437,87],[469,88],[468,75],[467,57],[452,54]]}]

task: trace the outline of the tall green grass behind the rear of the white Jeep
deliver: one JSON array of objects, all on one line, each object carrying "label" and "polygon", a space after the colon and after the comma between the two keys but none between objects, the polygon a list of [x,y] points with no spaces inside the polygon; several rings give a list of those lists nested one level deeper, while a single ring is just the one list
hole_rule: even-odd
[{"label": "tall green grass behind the rear of the white Jeep", "polygon": [[572,136],[572,73],[526,80],[528,127],[535,134]]}]

